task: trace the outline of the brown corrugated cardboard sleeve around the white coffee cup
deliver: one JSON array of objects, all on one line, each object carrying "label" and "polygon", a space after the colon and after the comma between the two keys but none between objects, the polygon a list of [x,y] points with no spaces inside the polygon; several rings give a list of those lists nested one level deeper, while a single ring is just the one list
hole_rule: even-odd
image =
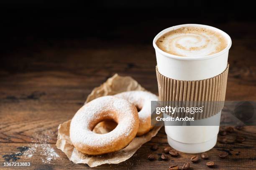
[{"label": "brown corrugated cardboard sleeve around the white coffee cup", "polygon": [[165,77],[158,71],[156,66],[159,99],[163,101],[163,105],[178,107],[204,105],[203,113],[195,113],[194,115],[175,113],[171,115],[172,117],[193,116],[195,120],[211,117],[220,112],[224,106],[222,101],[225,101],[228,68],[229,64],[222,73],[209,79],[182,81]]}]

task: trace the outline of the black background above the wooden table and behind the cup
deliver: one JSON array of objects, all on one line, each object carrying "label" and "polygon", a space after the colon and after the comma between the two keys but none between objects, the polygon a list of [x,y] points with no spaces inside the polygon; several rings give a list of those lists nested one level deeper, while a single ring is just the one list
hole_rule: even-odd
[{"label": "black background above the wooden table and behind the cup", "polygon": [[[83,47],[109,43],[151,44],[159,31],[184,23],[211,25],[235,38],[256,37],[253,6],[246,1],[218,0],[51,3],[6,0],[0,2],[0,42],[3,52],[7,53],[38,43],[51,46],[56,41],[60,47],[72,47],[66,40],[85,40]],[[243,27],[246,30],[240,30]],[[102,44],[92,39],[100,39]]]}]

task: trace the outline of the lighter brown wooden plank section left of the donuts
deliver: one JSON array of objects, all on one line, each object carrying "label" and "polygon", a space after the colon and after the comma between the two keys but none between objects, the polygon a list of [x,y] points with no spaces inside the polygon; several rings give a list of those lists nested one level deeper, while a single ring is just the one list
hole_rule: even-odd
[{"label": "lighter brown wooden plank section left of the donuts", "polygon": [[57,128],[83,103],[1,102],[0,142],[56,143]]}]

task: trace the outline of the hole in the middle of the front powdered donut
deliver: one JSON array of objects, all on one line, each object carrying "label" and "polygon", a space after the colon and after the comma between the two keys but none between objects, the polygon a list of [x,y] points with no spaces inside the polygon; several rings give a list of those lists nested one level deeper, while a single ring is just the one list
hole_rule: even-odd
[{"label": "hole in the middle of the front powdered donut", "polygon": [[115,122],[115,120],[103,120],[97,123],[97,125],[93,128],[92,132],[98,134],[109,133],[114,130],[117,125],[118,123]]}]

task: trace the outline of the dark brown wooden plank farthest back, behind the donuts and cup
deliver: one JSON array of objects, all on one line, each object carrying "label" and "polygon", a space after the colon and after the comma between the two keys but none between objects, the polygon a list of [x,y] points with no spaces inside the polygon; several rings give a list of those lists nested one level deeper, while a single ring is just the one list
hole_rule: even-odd
[{"label": "dark brown wooden plank farthest back, behind the donuts and cup", "polygon": [[[252,91],[256,92],[256,59],[251,57],[254,51],[241,40],[233,40],[233,45],[236,48],[230,50],[226,100],[255,100]],[[77,48],[69,52],[52,48],[30,53],[37,60],[24,57],[7,70],[0,69],[0,100],[84,100],[94,87],[115,73],[132,76],[147,90],[158,92],[156,59],[150,45],[96,51]],[[16,55],[12,58],[25,54]]]}]

